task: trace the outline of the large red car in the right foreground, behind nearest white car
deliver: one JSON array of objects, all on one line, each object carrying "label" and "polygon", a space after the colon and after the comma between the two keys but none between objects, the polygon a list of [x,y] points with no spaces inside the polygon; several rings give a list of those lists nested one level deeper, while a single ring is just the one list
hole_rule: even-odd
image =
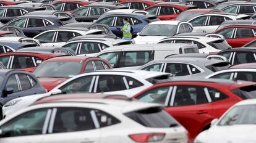
[{"label": "large red car in the right foreground, behind nearest white car", "polygon": [[207,79],[160,83],[135,95],[142,102],[164,104],[166,111],[189,131],[190,142],[211,120],[220,118],[229,107],[256,97],[255,83]]}]

